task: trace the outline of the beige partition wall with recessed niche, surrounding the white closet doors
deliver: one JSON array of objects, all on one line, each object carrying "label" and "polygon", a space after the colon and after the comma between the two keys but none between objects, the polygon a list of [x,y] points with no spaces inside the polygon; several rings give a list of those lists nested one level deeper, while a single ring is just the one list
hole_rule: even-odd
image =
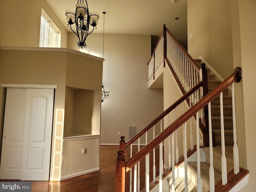
[{"label": "beige partition wall with recessed niche, surrounding the white closet doors", "polygon": [[[84,148],[91,151],[91,153],[84,155],[82,158],[83,160],[86,159],[88,161],[86,166],[80,166],[80,164],[77,164],[76,160],[74,160],[80,157],[80,154],[82,154],[82,148],[76,148],[72,154],[70,154],[68,151],[70,146],[76,145],[78,141],[70,140],[62,146],[62,137],[65,130],[69,131],[69,127],[72,128],[70,131],[71,134],[76,132],[79,134],[91,134],[92,132],[94,134],[99,134],[102,59],[97,58],[95,60],[92,59],[91,56],[87,58],[86,54],[60,48],[51,48],[50,50],[48,48],[23,48],[22,50],[15,50],[15,48],[14,50],[6,50],[3,48],[3,50],[0,51],[0,54],[0,84],[36,84],[58,86],[55,89],[54,98],[50,180],[60,180],[61,177],[67,176],[66,174],[69,174],[69,177],[72,177],[73,174],[76,175],[77,172],[85,174],[88,173],[88,170],[90,172],[95,171],[94,169],[96,168],[99,168],[99,136],[98,138],[94,139],[83,139],[84,142],[86,141]],[[67,72],[67,66],[70,66],[73,62],[76,64],[73,65],[72,70],[69,69],[69,72]],[[86,70],[87,68],[84,68],[84,66],[88,66],[88,69],[93,73],[88,73]],[[72,73],[76,73],[77,75],[73,74],[70,76]],[[100,80],[98,80],[98,78]],[[94,83],[88,83],[91,80]],[[73,87],[72,90],[74,90],[74,92],[79,91],[78,88],[84,90],[78,94],[66,92],[67,84]],[[5,91],[5,88],[0,87],[1,124],[4,117],[3,109]],[[73,105],[68,105],[67,108],[65,107],[66,93],[67,98],[76,101]],[[83,97],[81,93],[85,93],[86,96]],[[79,108],[79,111],[74,112],[74,109],[78,108],[77,101],[81,101],[83,99],[90,99],[91,101],[90,103],[82,102],[81,106],[87,110],[85,111],[84,109]],[[95,113],[94,111],[97,111],[98,113]],[[64,119],[63,116],[65,112],[65,117],[68,115],[68,118],[73,118],[72,115],[75,115],[73,122],[72,120],[67,122],[67,124],[63,122],[62,119]],[[92,118],[94,119],[93,121]],[[77,122],[80,124],[76,124]],[[2,126],[0,132],[2,133]],[[79,142],[82,142],[83,140],[79,140]],[[90,141],[92,144],[89,144]],[[97,144],[95,144],[95,142],[97,142]],[[89,163],[89,161],[92,160],[94,164]],[[69,172],[70,167],[62,168],[61,162],[68,162],[68,164],[72,164],[72,174]],[[90,165],[92,167],[90,167]],[[64,171],[64,173],[62,173],[62,171]]]}]

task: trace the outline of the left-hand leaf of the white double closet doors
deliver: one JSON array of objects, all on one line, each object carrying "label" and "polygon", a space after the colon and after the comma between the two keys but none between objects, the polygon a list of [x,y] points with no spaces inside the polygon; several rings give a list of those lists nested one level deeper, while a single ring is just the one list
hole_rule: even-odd
[{"label": "left-hand leaf of the white double closet doors", "polygon": [[20,179],[25,107],[26,89],[8,88],[4,113],[0,179]]}]

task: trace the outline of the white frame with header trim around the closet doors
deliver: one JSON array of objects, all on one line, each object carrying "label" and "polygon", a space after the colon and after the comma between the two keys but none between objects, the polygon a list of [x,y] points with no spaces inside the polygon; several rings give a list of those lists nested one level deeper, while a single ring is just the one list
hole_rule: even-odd
[{"label": "white frame with header trim around the closet doors", "polygon": [[[58,87],[58,85],[47,85],[47,84],[1,84],[2,88],[47,88],[47,89],[54,89],[54,98],[53,102],[55,100],[55,89]],[[6,92],[5,92],[5,98],[6,98]],[[5,107],[5,102],[4,102],[4,107]],[[3,114],[4,115],[4,114]],[[53,116],[54,118],[54,105],[53,105]],[[3,118],[4,120],[4,118]],[[52,130],[53,130],[53,124],[52,124]],[[0,142],[2,143],[2,135],[0,136]],[[53,138],[52,138],[53,139]],[[0,158],[1,158],[1,152],[2,152],[2,145],[0,146]],[[52,140],[51,140],[51,149],[52,153]],[[52,161],[51,155],[50,155],[50,162]],[[51,163],[50,163],[51,164]],[[51,166],[50,166],[50,172],[51,172]],[[50,180],[50,172],[49,172],[49,180]]]}]

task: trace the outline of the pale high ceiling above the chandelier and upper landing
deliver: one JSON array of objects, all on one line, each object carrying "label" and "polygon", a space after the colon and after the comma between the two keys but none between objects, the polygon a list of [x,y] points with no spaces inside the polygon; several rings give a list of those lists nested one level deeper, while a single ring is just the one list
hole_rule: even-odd
[{"label": "pale high ceiling above the chandelier and upper landing", "polygon": [[[46,0],[66,29],[66,10],[75,10],[77,0]],[[84,0],[85,3],[85,0]],[[182,43],[187,42],[187,0],[88,0],[89,12],[98,12],[97,29],[105,34],[151,34],[159,36],[163,24]],[[85,3],[86,4],[86,3]],[[180,17],[179,20],[175,20]]]}]

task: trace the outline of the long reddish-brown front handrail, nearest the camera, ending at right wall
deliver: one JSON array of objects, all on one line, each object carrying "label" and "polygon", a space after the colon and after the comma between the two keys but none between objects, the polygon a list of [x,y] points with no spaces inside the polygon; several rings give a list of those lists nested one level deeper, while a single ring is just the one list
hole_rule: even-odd
[{"label": "long reddish-brown front handrail, nearest the camera, ending at right wall", "polygon": [[197,102],[194,106],[188,109],[180,118],[175,120],[171,125],[169,125],[163,132],[161,132],[156,138],[149,142],[144,148],[137,152],[132,158],[126,162],[126,172],[128,172],[137,162],[142,160],[146,154],[152,151],[156,146],[163,142],[170,134],[177,130],[182,124],[184,124],[188,119],[192,118],[200,109],[206,106],[210,101],[216,98],[221,92],[223,92],[228,86],[233,82],[239,82],[242,77],[241,68],[235,68],[234,72],[224,80],[220,85],[218,85],[214,90],[208,93],[204,98]]}]

